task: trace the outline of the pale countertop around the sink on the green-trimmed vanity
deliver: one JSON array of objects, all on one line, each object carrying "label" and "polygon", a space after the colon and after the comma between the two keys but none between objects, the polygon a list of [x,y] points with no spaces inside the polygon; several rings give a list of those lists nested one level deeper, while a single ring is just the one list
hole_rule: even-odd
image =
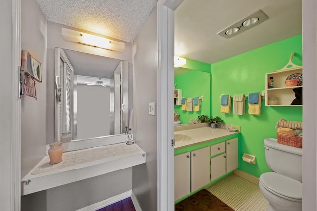
[{"label": "pale countertop around the sink on the green-trimmed vanity", "polygon": [[175,135],[182,134],[182,135],[188,135],[191,137],[191,140],[189,141],[178,142],[178,143],[176,141],[175,149],[190,146],[200,142],[223,138],[223,137],[230,136],[237,133],[239,133],[239,131],[230,132],[227,129],[221,129],[221,128],[212,129],[211,127],[201,127],[201,128],[195,128],[195,129],[175,131],[174,132]]}]

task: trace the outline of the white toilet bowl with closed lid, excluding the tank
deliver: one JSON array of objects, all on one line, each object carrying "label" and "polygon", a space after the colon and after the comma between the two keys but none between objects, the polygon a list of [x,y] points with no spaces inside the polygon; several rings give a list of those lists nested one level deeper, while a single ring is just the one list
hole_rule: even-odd
[{"label": "white toilet bowl with closed lid, excluding the tank", "polygon": [[268,211],[301,211],[302,183],[274,172],[264,173],[259,188],[269,201]]}]

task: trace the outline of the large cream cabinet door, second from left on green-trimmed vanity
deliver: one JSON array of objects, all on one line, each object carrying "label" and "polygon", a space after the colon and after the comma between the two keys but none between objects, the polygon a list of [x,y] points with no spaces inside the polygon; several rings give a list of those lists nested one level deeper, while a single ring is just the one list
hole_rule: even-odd
[{"label": "large cream cabinet door, second from left on green-trimmed vanity", "polygon": [[191,152],[191,192],[210,182],[209,147]]}]

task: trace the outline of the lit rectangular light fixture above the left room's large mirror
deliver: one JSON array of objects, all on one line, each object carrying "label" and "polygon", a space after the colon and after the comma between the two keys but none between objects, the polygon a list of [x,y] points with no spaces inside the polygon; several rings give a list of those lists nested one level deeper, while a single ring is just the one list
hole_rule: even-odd
[{"label": "lit rectangular light fixture above the left room's large mirror", "polygon": [[72,29],[62,28],[61,34],[64,40],[78,42],[80,44],[103,48],[106,50],[123,52],[125,48],[125,44],[123,42],[110,40],[104,37],[79,32]]}]

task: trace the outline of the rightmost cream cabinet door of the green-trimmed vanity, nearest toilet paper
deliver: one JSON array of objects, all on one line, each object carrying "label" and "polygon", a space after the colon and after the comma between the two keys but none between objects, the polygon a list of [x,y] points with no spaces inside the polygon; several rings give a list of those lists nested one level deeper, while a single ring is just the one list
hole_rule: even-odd
[{"label": "rightmost cream cabinet door of the green-trimmed vanity, nearest toilet paper", "polygon": [[226,172],[230,172],[238,168],[238,138],[226,141],[227,168]]}]

